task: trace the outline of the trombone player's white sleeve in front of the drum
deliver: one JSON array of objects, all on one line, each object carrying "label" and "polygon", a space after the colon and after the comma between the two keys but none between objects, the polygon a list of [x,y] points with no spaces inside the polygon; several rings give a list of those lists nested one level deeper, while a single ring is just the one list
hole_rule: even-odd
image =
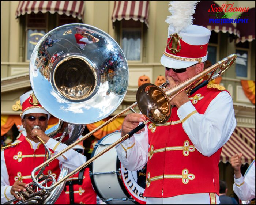
[{"label": "trombone player's white sleeve in front of the drum", "polygon": [[[120,134],[121,137],[121,134]],[[130,171],[140,170],[148,159],[148,132],[134,134],[127,140],[116,146],[117,156],[120,162]]]}]

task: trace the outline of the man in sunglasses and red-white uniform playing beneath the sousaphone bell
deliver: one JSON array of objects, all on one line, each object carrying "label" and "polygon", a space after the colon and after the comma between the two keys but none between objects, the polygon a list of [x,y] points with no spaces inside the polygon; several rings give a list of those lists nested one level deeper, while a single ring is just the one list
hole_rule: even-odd
[{"label": "man in sunglasses and red-white uniform playing beneath the sousaphone bell", "polygon": [[[32,90],[20,96],[20,103],[22,104],[21,121],[27,136],[22,142],[13,144],[1,152],[1,202],[9,201],[14,197],[21,200],[17,196],[18,192],[26,190],[28,183],[32,181],[32,170],[44,162],[44,145],[35,136],[39,136],[46,143],[52,155],[67,147],[45,134],[50,114],[41,106]],[[41,130],[33,129],[35,125]],[[50,162],[43,173],[52,174],[57,180],[61,164],[70,170],[75,170],[85,162],[84,155],[69,150]],[[55,204],[66,204],[64,191]]]}]

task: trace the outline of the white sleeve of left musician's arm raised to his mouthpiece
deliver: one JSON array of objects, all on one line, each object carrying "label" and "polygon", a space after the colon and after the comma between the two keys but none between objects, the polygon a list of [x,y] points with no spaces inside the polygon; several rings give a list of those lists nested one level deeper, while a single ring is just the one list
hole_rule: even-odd
[{"label": "white sleeve of left musician's arm raised to his mouthpiece", "polygon": [[[55,154],[68,147],[66,144],[60,143],[53,138],[50,138],[46,145],[48,146],[48,148],[52,149]],[[69,168],[71,171],[74,171],[76,168],[80,167],[86,162],[86,156],[76,152],[73,149],[69,149],[63,154],[63,156],[61,155],[57,157],[57,159],[60,161],[61,164],[63,164],[63,166]]]}]

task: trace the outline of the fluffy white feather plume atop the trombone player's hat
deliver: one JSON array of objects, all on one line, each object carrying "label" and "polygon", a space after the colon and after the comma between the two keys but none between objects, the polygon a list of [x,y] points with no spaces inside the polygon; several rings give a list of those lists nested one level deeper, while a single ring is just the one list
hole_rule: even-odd
[{"label": "fluffy white feather plume atop the trombone player's hat", "polygon": [[166,23],[174,27],[175,33],[192,25],[195,14],[196,4],[199,1],[171,1],[169,3],[170,16],[167,16]]}]

